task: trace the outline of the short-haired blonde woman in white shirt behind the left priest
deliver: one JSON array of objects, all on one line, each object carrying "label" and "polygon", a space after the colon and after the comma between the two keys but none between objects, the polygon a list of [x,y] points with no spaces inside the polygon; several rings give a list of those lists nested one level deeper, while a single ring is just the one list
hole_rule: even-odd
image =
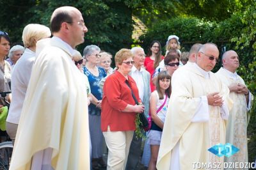
[{"label": "short-haired blonde woman in white shirt behind the left priest", "polygon": [[13,143],[15,141],[32,66],[35,61],[36,42],[49,36],[51,36],[49,27],[40,24],[28,24],[23,29],[22,41],[26,49],[12,71],[13,100],[6,120],[6,130]]}]

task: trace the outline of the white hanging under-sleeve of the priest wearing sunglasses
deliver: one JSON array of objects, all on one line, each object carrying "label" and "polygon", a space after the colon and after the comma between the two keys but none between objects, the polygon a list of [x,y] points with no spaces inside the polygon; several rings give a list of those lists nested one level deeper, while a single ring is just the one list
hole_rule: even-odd
[{"label": "white hanging under-sleeve of the priest wearing sunglasses", "polygon": [[193,116],[191,122],[206,122],[209,121],[209,105],[206,96],[200,97],[200,103],[196,109],[195,115]]}]

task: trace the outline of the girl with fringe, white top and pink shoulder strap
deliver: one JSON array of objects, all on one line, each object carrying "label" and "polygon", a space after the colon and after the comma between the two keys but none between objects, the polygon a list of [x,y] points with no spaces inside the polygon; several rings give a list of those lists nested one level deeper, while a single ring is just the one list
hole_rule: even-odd
[{"label": "girl with fringe, white top and pink shoulder strap", "polygon": [[171,76],[167,71],[159,72],[156,81],[156,90],[150,95],[150,114],[152,125],[148,133],[151,157],[148,169],[156,169],[157,155],[166,116],[167,105],[171,94]]}]

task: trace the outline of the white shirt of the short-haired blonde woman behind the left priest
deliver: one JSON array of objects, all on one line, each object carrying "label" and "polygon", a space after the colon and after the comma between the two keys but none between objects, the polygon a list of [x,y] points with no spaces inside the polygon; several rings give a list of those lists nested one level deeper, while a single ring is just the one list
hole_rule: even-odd
[{"label": "white shirt of the short-haired blonde woman behind the left priest", "polygon": [[19,124],[20,112],[26,96],[35,52],[26,49],[12,70],[12,102],[6,121]]}]

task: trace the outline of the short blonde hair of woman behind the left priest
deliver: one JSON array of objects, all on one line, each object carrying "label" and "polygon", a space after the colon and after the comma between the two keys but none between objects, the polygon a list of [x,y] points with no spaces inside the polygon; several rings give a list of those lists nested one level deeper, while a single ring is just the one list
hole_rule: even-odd
[{"label": "short blonde hair of woman behind the left priest", "polygon": [[22,42],[26,48],[35,47],[36,42],[51,36],[49,27],[41,24],[28,24],[23,29]]}]

